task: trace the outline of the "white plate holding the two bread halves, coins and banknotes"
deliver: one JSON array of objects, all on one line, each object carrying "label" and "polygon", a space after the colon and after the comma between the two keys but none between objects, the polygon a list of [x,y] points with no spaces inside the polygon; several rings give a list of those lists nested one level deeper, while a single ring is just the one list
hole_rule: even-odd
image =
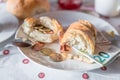
[{"label": "white plate holding the two bread halves, coins and banknotes", "polygon": [[[67,28],[67,26],[69,26],[74,21],[77,21],[79,19],[85,19],[93,23],[95,27],[100,31],[108,32],[112,30],[115,32],[115,34],[118,34],[118,32],[114,29],[114,27],[109,23],[107,23],[106,21],[81,12],[57,11],[57,12],[49,12],[49,13],[41,14],[36,17],[39,16],[50,16],[56,18],[63,25],[64,28]],[[22,36],[24,36],[24,34],[22,33],[21,28],[19,28],[16,33],[16,38]],[[59,50],[59,48],[57,48],[55,45],[56,44],[48,45],[48,47]],[[23,55],[30,58],[33,62],[53,69],[88,71],[101,67],[97,64],[87,64],[87,63],[79,62],[77,60],[65,60],[62,62],[53,62],[48,57],[44,57],[40,55],[40,53],[35,52],[30,48],[19,48],[19,50],[23,53]]]}]

